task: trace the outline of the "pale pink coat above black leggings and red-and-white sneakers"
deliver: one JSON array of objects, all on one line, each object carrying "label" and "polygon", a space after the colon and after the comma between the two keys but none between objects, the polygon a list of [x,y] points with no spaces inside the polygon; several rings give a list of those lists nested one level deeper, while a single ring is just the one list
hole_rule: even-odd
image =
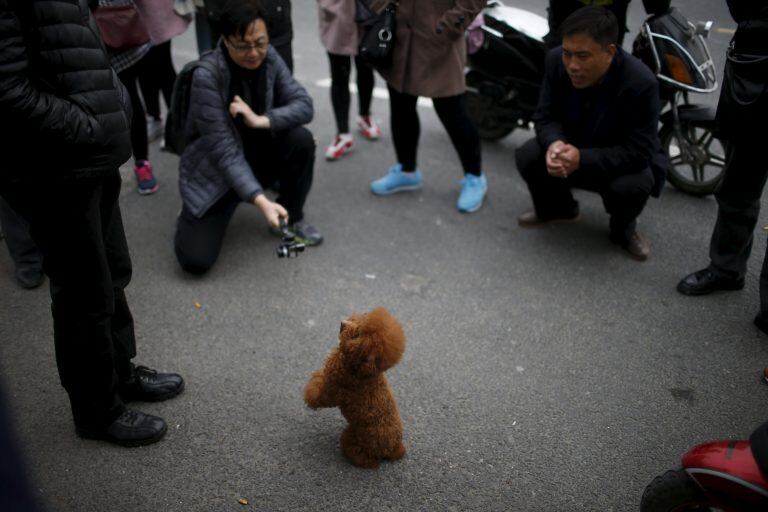
[{"label": "pale pink coat above black leggings and red-and-white sneakers", "polygon": [[320,41],[336,55],[357,55],[355,0],[317,0]]}]

